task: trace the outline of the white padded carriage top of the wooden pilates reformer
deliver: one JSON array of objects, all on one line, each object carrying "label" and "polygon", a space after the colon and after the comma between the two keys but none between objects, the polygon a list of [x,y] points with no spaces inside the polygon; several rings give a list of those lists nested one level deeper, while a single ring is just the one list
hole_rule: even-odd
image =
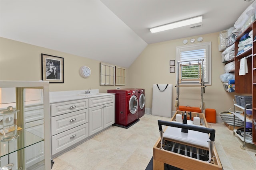
[{"label": "white padded carriage top of the wooden pilates reformer", "polygon": [[188,130],[188,133],[181,132],[181,128],[168,126],[163,134],[164,138],[180,141],[198,147],[209,148],[210,137],[208,133]]}]

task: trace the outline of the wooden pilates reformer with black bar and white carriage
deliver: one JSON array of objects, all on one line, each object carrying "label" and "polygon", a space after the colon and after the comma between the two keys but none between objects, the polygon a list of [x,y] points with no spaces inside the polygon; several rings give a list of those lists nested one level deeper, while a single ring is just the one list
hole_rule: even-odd
[{"label": "wooden pilates reformer with black bar and white carriage", "polygon": [[160,138],[153,148],[153,169],[164,170],[169,164],[182,170],[222,170],[214,147],[215,130],[208,128],[204,113],[190,112],[187,124],[182,117],[184,111],[176,111],[171,121],[158,120]]}]

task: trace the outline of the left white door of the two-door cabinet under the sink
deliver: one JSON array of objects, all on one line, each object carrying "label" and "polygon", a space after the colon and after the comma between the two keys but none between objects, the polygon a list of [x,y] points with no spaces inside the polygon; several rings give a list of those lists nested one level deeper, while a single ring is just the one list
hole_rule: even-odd
[{"label": "left white door of the two-door cabinet under the sink", "polygon": [[103,112],[103,105],[89,108],[89,135],[93,135],[104,128]]}]

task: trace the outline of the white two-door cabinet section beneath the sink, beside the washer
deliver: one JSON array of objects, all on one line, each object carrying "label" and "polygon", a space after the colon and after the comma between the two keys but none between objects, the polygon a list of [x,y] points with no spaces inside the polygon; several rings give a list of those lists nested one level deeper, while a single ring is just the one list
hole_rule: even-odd
[{"label": "white two-door cabinet section beneath the sink, beside the washer", "polygon": [[89,135],[115,123],[114,96],[90,98],[89,106]]}]

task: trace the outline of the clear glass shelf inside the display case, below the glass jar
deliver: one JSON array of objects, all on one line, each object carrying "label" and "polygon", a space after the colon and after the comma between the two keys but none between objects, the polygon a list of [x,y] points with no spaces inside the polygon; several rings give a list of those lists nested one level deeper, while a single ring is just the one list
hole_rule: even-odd
[{"label": "clear glass shelf inside the display case, below the glass jar", "polygon": [[19,137],[16,139],[10,141],[0,141],[0,157],[44,141],[44,139],[24,129],[17,131],[17,134]]}]

